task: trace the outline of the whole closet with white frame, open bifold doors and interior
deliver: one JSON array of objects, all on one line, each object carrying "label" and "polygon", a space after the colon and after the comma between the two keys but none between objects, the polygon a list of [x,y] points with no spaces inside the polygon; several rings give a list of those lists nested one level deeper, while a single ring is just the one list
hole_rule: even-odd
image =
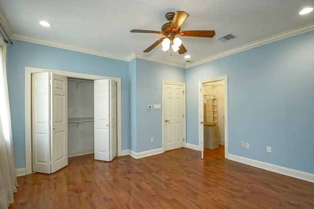
[{"label": "whole closet with white frame, open bifold doors and interior", "polygon": [[53,173],[80,155],[123,155],[121,79],[26,67],[25,144],[25,174]]}]

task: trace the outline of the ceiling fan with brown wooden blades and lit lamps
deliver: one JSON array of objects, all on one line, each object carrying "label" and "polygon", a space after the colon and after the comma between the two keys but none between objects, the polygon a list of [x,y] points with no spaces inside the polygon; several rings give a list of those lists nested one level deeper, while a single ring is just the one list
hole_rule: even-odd
[{"label": "ceiling fan with brown wooden blades and lit lamps", "polygon": [[189,16],[184,11],[167,12],[165,17],[169,21],[169,23],[165,23],[161,26],[161,31],[155,30],[138,30],[133,29],[131,33],[159,33],[164,35],[161,39],[157,40],[153,45],[149,46],[143,52],[150,52],[153,48],[162,43],[162,50],[168,51],[170,41],[173,42],[172,49],[174,51],[178,51],[179,54],[184,54],[187,50],[183,46],[182,41],[177,35],[180,36],[193,36],[193,37],[205,37],[212,38],[215,35],[214,30],[181,30],[182,23]]}]

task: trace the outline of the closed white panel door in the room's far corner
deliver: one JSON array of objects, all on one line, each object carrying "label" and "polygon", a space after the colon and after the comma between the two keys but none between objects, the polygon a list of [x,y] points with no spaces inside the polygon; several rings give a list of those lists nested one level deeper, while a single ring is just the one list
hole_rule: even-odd
[{"label": "closed white panel door in the room's far corner", "polygon": [[183,147],[183,86],[163,86],[164,151]]}]

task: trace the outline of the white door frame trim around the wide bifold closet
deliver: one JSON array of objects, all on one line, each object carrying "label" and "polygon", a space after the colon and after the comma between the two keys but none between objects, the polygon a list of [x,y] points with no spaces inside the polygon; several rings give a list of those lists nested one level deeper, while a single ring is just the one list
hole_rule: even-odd
[{"label": "white door frame trim around the wide bifold closet", "polygon": [[75,77],[90,80],[112,79],[117,82],[117,148],[118,156],[121,156],[121,78],[102,75],[84,74],[60,70],[49,70],[25,67],[25,167],[26,174],[32,172],[31,156],[31,74],[37,72],[53,72],[66,77]]}]

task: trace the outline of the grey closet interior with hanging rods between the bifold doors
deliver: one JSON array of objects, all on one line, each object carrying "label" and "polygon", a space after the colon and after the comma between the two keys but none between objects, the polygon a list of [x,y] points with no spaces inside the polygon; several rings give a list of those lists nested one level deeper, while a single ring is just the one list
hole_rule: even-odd
[{"label": "grey closet interior with hanging rods between the bifold doors", "polygon": [[69,157],[94,153],[94,80],[68,78]]}]

